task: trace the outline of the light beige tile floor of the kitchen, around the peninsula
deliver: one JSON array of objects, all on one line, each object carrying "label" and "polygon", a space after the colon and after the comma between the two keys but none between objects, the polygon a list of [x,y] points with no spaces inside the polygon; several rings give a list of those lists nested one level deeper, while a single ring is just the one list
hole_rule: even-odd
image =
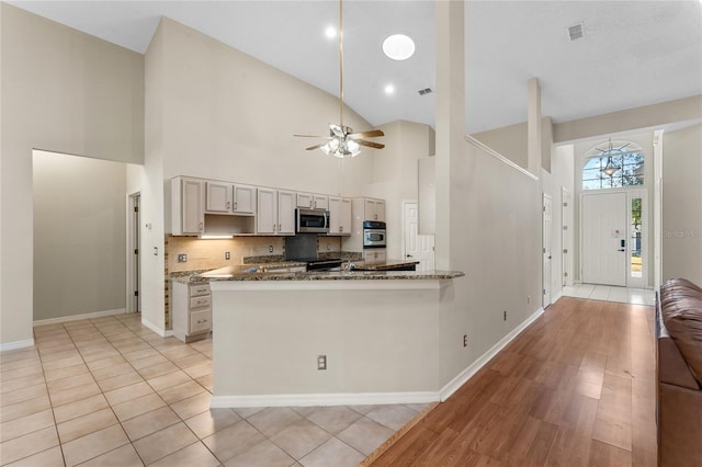
[{"label": "light beige tile floor of the kitchen, around the peninsula", "polygon": [[0,354],[0,465],[355,466],[422,405],[210,409],[212,340],[118,315]]}]

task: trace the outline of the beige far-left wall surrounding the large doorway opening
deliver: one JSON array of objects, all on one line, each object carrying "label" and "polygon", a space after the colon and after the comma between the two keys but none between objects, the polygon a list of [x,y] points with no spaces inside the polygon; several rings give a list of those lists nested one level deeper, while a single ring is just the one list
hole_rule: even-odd
[{"label": "beige far-left wall surrounding the large doorway opening", "polygon": [[32,149],[141,163],[141,55],[2,9],[0,344],[32,342]]}]

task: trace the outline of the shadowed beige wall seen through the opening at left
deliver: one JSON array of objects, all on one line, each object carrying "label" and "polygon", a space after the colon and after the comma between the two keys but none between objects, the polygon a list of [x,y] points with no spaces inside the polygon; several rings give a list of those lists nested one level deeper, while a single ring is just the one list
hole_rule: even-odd
[{"label": "shadowed beige wall seen through the opening at left", "polygon": [[34,320],[125,308],[126,164],[34,151]]}]

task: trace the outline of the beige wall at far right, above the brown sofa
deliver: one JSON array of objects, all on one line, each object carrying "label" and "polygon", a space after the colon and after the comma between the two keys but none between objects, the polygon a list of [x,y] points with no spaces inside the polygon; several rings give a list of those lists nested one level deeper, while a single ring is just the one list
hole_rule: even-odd
[{"label": "beige wall at far right, above the brown sofa", "polygon": [[664,133],[663,282],[702,285],[702,125]]}]

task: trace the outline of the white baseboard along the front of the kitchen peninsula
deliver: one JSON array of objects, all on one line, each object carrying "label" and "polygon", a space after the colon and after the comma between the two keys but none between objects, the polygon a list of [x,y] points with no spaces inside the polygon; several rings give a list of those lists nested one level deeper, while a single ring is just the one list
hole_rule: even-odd
[{"label": "white baseboard along the front of the kitchen peninsula", "polygon": [[212,396],[213,409],[244,407],[319,407],[428,403],[439,401],[439,392],[279,394],[267,396]]}]

